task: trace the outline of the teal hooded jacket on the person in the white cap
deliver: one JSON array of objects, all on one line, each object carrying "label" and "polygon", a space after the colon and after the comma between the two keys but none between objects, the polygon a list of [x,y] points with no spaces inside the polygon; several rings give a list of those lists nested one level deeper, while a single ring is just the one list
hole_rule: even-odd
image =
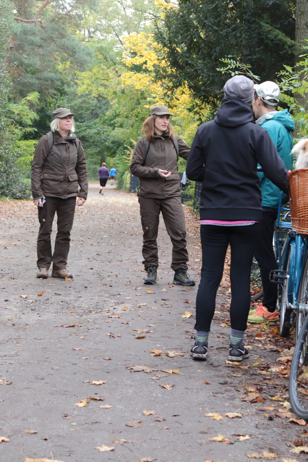
[{"label": "teal hooded jacket on the person in the white cap", "polygon": [[[295,129],[295,124],[288,109],[276,112],[274,116],[265,118],[258,125],[265,128],[269,133],[279,156],[284,161],[285,168],[292,170],[292,132]],[[280,189],[266,178],[262,172],[258,173],[258,175],[262,194],[262,207],[278,208]]]}]

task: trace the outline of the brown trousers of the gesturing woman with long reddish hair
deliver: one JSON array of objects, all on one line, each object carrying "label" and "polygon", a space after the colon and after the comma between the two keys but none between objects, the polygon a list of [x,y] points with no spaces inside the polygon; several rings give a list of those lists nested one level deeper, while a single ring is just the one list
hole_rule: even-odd
[{"label": "brown trousers of the gesturing woman with long reddish hair", "polygon": [[142,263],[145,268],[158,267],[157,234],[159,214],[162,212],[166,230],[170,236],[172,248],[173,270],[186,266],[188,253],[186,249],[186,229],[181,196],[167,199],[138,197],[140,204],[141,224],[143,229]]}]

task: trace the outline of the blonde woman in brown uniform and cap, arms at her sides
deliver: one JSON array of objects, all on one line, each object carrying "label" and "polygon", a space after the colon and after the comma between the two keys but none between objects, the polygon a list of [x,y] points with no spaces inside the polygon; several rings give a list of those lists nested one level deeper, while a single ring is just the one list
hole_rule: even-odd
[{"label": "blonde woman in brown uniform and cap, arms at her sides", "polygon": [[[38,140],[34,152],[31,190],[40,222],[37,237],[37,278],[48,278],[51,262],[52,277],[72,278],[66,264],[75,206],[84,205],[88,194],[85,154],[74,134],[73,116],[66,108],[54,110],[51,132]],[[42,199],[45,199],[43,204]],[[55,213],[58,231],[52,253],[50,234]]]}]

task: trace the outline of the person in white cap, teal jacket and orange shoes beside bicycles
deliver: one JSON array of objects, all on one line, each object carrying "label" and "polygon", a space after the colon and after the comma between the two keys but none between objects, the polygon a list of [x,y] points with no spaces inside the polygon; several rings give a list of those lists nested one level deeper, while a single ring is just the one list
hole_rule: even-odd
[{"label": "person in white cap, teal jacket and orange shoes beside bicycles", "polygon": [[[257,119],[256,124],[266,129],[286,169],[292,170],[292,131],[295,129],[295,124],[287,109],[283,111],[276,109],[279,98],[280,90],[274,82],[267,81],[254,85],[253,111]],[[269,274],[272,269],[277,268],[272,242],[281,191],[263,173],[259,173],[259,178],[263,213],[254,256],[260,267],[263,299],[257,310],[249,312],[248,321],[275,322],[279,319],[276,309],[278,291],[277,285],[270,282]]]}]

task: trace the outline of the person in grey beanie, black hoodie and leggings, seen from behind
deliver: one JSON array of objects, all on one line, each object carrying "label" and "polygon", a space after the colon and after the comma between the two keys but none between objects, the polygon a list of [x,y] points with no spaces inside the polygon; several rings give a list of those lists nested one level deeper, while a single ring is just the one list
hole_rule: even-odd
[{"label": "person in grey beanie, black hoodie and leggings, seen from behind", "polygon": [[200,234],[201,280],[196,300],[193,359],[206,359],[216,292],[231,248],[231,335],[229,360],[248,357],[244,331],[250,307],[250,270],[262,219],[257,164],[264,175],[288,194],[288,173],[266,130],[253,123],[254,82],[229,79],[214,120],[197,130],[187,160],[189,180],[202,182]]}]

